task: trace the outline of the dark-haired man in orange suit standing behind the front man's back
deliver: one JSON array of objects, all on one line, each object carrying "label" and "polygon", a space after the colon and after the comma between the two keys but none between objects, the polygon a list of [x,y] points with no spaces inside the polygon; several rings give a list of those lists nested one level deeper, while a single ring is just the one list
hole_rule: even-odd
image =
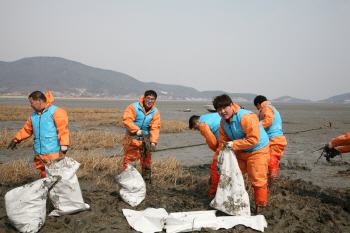
[{"label": "dark-haired man in orange suit standing behind the front man's back", "polygon": [[279,160],[287,146],[286,137],[282,132],[282,118],[277,109],[267,101],[265,96],[258,95],[254,105],[259,110],[258,117],[270,140],[270,162],[268,181],[270,185],[278,181]]}]

